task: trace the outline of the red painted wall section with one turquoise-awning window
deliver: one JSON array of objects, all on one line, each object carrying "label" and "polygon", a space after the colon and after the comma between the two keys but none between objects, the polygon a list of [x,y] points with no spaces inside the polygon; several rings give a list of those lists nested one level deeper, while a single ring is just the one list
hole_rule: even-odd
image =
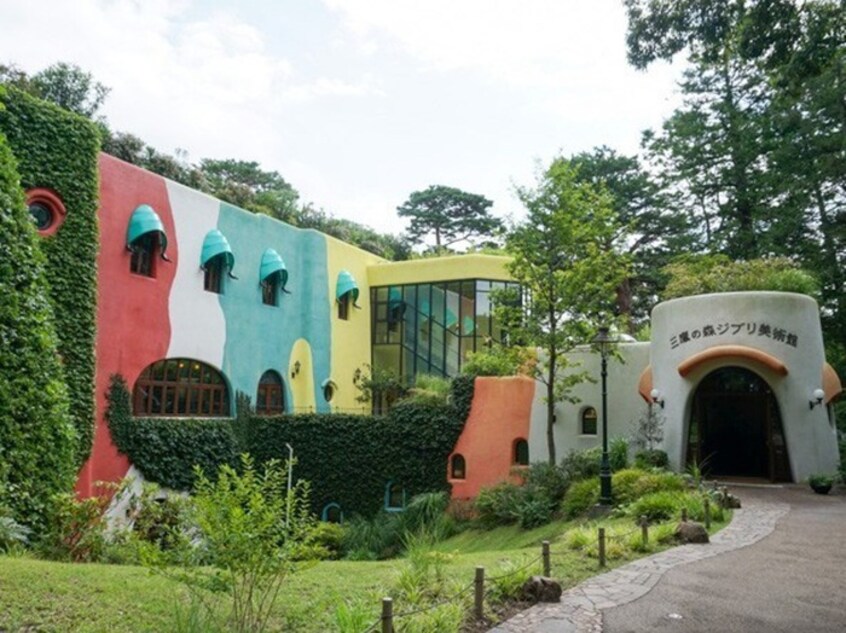
[{"label": "red painted wall section with one turquoise-awning window", "polygon": [[[158,258],[155,278],[129,272],[126,229],[132,212],[150,205],[168,235],[170,262]],[[168,297],[179,253],[164,180],[117,158],[100,154],[100,252],[97,259],[96,414],[91,458],[82,467],[77,492],[95,494],[98,481],[120,481],[129,460],[112,443],[104,418],[109,377],[120,373],[130,391],[141,371],[167,356]]]}]

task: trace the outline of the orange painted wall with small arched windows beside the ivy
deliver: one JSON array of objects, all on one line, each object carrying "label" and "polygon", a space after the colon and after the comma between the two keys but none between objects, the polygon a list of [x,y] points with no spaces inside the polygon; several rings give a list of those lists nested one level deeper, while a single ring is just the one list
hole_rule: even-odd
[{"label": "orange painted wall with small arched windows beside the ivy", "polygon": [[[476,378],[470,415],[447,463],[453,499],[473,498],[483,487],[509,479],[514,441],[529,439],[534,396],[535,381],[530,378]],[[450,477],[456,453],[464,456],[464,479]]]}]

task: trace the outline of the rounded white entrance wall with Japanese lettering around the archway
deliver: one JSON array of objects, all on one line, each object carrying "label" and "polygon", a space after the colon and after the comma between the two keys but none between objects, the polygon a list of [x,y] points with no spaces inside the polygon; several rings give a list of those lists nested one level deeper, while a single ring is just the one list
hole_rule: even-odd
[{"label": "rounded white entrance wall with Japanese lettering around the archway", "polygon": [[[764,326],[764,327],[762,327]],[[760,350],[787,369],[780,375],[759,361],[724,356],[683,377],[678,366],[708,348],[743,346]],[[685,297],[652,311],[650,360],[653,385],[666,397],[665,448],[674,466],[684,458],[690,407],[697,385],[720,367],[738,366],[767,381],[778,400],[795,481],[832,472],[838,463],[836,433],[825,407],[810,409],[822,385],[825,363],[819,308],[805,295],[736,292]]]}]

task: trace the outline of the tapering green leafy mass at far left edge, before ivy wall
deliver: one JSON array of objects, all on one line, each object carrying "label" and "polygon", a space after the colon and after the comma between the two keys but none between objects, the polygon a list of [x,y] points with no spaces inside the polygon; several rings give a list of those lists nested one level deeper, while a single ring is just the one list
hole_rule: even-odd
[{"label": "tapering green leafy mass at far left edge, before ivy wall", "polygon": [[39,534],[53,496],[73,487],[77,438],[45,259],[19,182],[0,132],[0,507]]}]

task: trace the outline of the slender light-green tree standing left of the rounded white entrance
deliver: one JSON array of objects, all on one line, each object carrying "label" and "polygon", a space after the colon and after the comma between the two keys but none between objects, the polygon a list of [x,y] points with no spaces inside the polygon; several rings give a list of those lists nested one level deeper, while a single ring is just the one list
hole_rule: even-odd
[{"label": "slender light-green tree standing left of the rounded white entrance", "polygon": [[508,270],[530,304],[500,300],[497,310],[512,340],[543,352],[533,371],[546,389],[547,450],[555,464],[555,404],[574,401],[573,387],[588,379],[567,353],[590,340],[601,315],[613,310],[627,258],[609,247],[621,229],[612,198],[601,185],[580,181],[569,161],[553,161],[533,188],[517,194],[527,216],[506,236]]}]

